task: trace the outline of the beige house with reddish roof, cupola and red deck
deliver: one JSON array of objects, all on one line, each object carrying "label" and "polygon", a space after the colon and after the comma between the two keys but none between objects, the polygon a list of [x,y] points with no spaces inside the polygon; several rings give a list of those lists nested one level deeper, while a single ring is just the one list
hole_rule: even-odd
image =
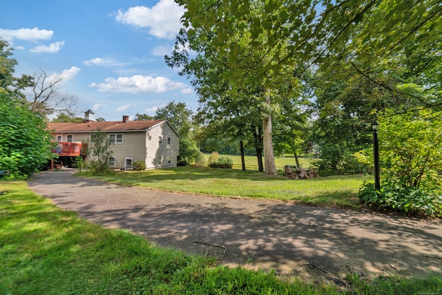
[{"label": "beige house with reddish roof, cupola and red deck", "polygon": [[180,136],[164,120],[95,122],[93,111],[86,111],[83,122],[48,123],[50,133],[57,141],[53,152],[59,154],[64,166],[72,166],[76,156],[85,160],[85,148],[91,133],[100,130],[113,142],[113,157],[109,166],[115,169],[133,169],[133,163],[144,161],[146,169],[177,166]]}]

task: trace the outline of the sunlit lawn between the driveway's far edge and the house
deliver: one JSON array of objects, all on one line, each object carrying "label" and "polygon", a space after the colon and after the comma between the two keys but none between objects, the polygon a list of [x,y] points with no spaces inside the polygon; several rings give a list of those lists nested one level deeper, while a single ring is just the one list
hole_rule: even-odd
[{"label": "sunlit lawn between the driveway's far edge and the house", "polygon": [[272,199],[302,202],[313,206],[353,209],[360,207],[357,197],[359,187],[364,180],[369,180],[362,175],[290,180],[282,174],[265,175],[257,171],[205,167],[122,171],[111,175],[93,176],[93,178],[164,191]]}]

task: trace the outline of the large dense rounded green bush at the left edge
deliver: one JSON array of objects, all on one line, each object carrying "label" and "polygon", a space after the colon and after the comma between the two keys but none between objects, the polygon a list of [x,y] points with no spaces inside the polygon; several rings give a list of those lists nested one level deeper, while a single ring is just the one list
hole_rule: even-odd
[{"label": "large dense rounded green bush at the left edge", "polygon": [[0,170],[8,178],[26,178],[50,160],[46,122],[26,106],[0,93]]}]

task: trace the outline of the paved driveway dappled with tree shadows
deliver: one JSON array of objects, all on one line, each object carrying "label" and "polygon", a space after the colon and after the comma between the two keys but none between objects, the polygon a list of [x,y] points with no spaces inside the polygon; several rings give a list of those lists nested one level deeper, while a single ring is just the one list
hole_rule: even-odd
[{"label": "paved driveway dappled with tree shadows", "polygon": [[281,276],[442,274],[442,220],[120,187],[44,172],[30,189],[103,227]]}]

